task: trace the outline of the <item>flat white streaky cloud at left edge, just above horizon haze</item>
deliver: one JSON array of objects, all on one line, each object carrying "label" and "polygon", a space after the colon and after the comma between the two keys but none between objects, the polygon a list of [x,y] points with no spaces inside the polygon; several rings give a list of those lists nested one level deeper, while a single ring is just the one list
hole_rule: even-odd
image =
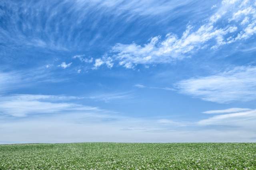
[{"label": "flat white streaky cloud at left edge, just above horizon haze", "polygon": [[[66,111],[99,111],[97,107],[63,102],[75,97],[48,95],[14,95],[0,98],[0,113],[14,117],[29,114],[65,113]],[[57,102],[62,101],[62,102]]]}]

